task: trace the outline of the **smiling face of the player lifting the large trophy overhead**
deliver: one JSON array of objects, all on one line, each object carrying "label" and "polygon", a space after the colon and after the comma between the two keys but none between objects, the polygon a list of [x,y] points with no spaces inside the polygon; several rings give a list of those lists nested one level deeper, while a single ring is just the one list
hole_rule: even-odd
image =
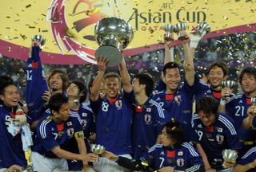
[{"label": "smiling face of the player lifting the large trophy overhead", "polygon": [[110,76],[106,78],[104,83],[104,90],[107,98],[117,97],[120,88],[120,81],[117,77]]}]

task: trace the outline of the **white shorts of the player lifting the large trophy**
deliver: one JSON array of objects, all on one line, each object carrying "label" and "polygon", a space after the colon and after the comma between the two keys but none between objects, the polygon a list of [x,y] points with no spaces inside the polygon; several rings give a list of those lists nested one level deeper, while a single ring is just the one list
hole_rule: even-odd
[{"label": "white shorts of the player lifting the large trophy", "polygon": [[[121,154],[118,156],[131,159],[130,154]],[[129,171],[126,168],[119,166],[117,162],[110,161],[108,158],[100,157],[98,162],[94,162],[94,170],[97,172],[124,172]]]}]

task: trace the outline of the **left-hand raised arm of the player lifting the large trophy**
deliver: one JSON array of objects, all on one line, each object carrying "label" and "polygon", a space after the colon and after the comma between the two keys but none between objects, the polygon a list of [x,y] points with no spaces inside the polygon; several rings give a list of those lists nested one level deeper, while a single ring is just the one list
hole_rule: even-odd
[{"label": "left-hand raised arm of the player lifting the large trophy", "polygon": [[90,92],[90,100],[97,101],[99,97],[99,91],[102,86],[103,76],[106,71],[106,63],[108,62],[106,57],[98,57],[97,65],[98,65],[98,75],[94,79],[94,83]]}]

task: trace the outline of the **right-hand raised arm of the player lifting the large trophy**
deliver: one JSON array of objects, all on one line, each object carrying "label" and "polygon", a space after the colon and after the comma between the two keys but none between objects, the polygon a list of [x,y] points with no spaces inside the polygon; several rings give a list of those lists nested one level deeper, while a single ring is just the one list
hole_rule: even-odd
[{"label": "right-hand raised arm of the player lifting the large trophy", "polygon": [[126,68],[126,61],[124,58],[122,58],[122,62],[120,65],[118,65],[120,76],[122,79],[122,88],[125,92],[131,92],[133,90],[132,85],[130,84],[130,75],[128,73],[128,70]]}]

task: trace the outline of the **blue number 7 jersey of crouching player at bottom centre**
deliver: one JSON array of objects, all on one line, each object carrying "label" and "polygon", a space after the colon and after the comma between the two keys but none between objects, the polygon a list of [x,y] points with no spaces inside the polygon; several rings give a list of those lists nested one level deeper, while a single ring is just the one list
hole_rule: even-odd
[{"label": "blue number 7 jersey of crouching player at bottom centre", "polygon": [[202,158],[192,143],[183,143],[182,146],[174,148],[173,151],[169,151],[162,144],[156,144],[140,159],[142,162],[148,162],[154,170],[173,166],[174,170],[197,171],[202,166]]}]

